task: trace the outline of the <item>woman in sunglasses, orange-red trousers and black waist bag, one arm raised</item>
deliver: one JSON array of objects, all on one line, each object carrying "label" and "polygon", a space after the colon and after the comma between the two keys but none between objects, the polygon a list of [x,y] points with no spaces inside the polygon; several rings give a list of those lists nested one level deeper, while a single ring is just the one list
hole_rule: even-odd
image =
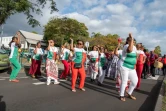
[{"label": "woman in sunglasses, orange-red trousers and black waist bag, one arm raised", "polygon": [[71,39],[71,50],[74,52],[73,60],[71,63],[72,68],[72,92],[76,92],[75,85],[78,74],[80,77],[80,85],[79,89],[82,91],[85,91],[84,89],[84,83],[85,83],[85,68],[84,68],[84,62],[85,62],[85,50],[84,50],[84,42],[81,40],[77,40],[77,46],[73,47],[73,39]]}]

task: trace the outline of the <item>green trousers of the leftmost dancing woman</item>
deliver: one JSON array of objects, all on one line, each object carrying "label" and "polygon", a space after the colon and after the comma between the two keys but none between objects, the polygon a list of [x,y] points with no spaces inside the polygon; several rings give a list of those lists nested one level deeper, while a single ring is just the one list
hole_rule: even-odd
[{"label": "green trousers of the leftmost dancing woman", "polygon": [[18,72],[21,70],[21,65],[17,58],[10,58],[10,63],[12,64],[12,72],[10,75],[10,80],[16,79]]}]

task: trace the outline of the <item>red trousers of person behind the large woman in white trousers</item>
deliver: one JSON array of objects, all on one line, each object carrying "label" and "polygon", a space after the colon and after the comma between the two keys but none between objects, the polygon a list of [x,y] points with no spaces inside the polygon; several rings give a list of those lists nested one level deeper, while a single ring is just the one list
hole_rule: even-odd
[{"label": "red trousers of person behind the large woman in white trousers", "polygon": [[143,64],[136,65],[136,72],[138,76],[138,83],[136,87],[137,89],[140,87],[140,84],[141,84],[141,75],[142,75],[143,67],[144,67]]}]

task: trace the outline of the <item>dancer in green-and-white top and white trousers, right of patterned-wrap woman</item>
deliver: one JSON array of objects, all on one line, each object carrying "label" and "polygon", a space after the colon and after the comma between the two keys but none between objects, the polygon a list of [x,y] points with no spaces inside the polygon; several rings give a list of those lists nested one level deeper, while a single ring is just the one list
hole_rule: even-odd
[{"label": "dancer in green-and-white top and white trousers, right of patterned-wrap woman", "polygon": [[104,47],[100,47],[100,54],[99,54],[99,78],[98,78],[98,85],[102,85],[104,78],[105,78],[105,71],[106,71],[106,62],[107,58],[104,54]]}]

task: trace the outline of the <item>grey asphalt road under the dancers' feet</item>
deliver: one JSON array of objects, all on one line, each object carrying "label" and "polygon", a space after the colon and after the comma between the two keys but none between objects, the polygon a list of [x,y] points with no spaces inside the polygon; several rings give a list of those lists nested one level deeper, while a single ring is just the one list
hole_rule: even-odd
[{"label": "grey asphalt road under the dancers' feet", "polygon": [[115,81],[106,79],[99,87],[86,80],[86,92],[72,93],[70,81],[45,84],[20,73],[20,83],[10,83],[6,72],[0,74],[0,111],[153,111],[163,76],[142,80],[136,101],[118,99]]}]

